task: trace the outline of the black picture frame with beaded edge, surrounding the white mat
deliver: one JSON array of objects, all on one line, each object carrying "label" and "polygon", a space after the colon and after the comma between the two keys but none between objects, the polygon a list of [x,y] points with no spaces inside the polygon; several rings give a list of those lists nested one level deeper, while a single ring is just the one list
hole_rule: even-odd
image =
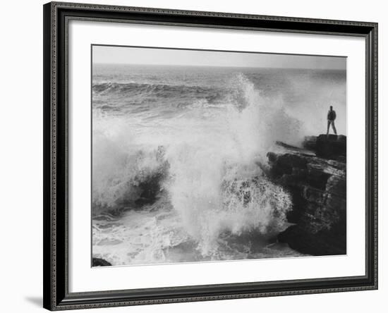
[{"label": "black picture frame with beaded edge, surrounding the white mat", "polygon": [[[51,2],[45,4],[44,307],[85,309],[377,289],[377,23]],[[366,46],[365,276],[68,292],[68,20],[358,36]]]}]

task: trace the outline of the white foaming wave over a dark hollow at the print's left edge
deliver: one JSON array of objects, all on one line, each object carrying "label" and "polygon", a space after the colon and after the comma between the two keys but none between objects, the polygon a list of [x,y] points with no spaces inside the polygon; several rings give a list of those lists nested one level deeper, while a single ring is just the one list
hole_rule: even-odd
[{"label": "white foaming wave over a dark hollow at the print's left edge", "polygon": [[133,208],[143,193],[150,194],[150,187],[158,188],[159,180],[166,176],[164,149],[133,145],[131,126],[121,118],[106,116],[95,120],[92,213]]}]

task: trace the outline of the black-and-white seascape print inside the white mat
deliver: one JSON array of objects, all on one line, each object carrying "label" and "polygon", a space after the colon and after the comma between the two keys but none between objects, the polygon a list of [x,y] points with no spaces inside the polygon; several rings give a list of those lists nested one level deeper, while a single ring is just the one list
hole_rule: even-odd
[{"label": "black-and-white seascape print inside the white mat", "polygon": [[92,45],[92,266],[346,254],[346,57]]}]

